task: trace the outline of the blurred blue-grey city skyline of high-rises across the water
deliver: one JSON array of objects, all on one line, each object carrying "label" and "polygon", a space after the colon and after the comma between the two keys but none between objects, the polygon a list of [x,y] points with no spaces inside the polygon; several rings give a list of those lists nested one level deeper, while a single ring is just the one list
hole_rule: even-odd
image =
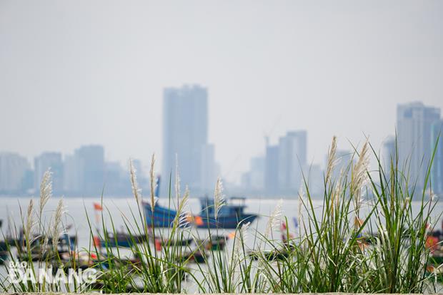
[{"label": "blurred blue-grey city skyline of high-rises across the water", "polygon": [[[159,173],[162,177],[161,196],[168,195],[169,173],[175,179],[176,165],[180,184],[189,187],[191,195],[210,195],[219,175],[214,153],[216,147],[208,142],[207,88],[199,85],[165,88],[164,90],[164,161]],[[395,160],[399,150],[399,165],[407,165],[413,182],[424,183],[427,165],[442,132],[443,118],[440,108],[411,102],[397,105],[395,134],[389,135],[379,148],[385,169]],[[392,133],[392,132],[391,132]],[[294,196],[297,195],[303,177],[307,177],[313,193],[322,190],[324,167],[312,163],[307,157],[309,145],[307,130],[287,130],[278,143],[265,140],[265,154],[250,156],[249,170],[242,173],[239,184],[228,182],[230,194]],[[397,146],[396,146],[397,145]],[[353,150],[337,150],[339,165],[352,161]],[[327,148],[325,148],[327,150]],[[106,195],[127,195],[128,174],[119,162],[105,159],[102,145],[83,145],[71,154],[42,152],[34,157],[34,166],[16,152],[0,152],[0,194],[34,194],[44,172],[51,168],[54,193],[69,196],[97,195],[104,189]],[[149,191],[146,166],[134,160],[141,187]],[[157,163],[156,166],[159,166]],[[333,177],[339,177],[337,167]],[[431,170],[433,190],[443,192],[443,145],[438,145]],[[222,179],[224,180],[224,179]],[[417,186],[422,189],[420,185]]]}]

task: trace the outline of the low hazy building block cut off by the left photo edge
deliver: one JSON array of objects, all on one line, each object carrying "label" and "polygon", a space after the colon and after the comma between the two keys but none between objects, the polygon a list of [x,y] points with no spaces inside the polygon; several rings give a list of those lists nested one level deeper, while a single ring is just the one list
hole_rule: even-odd
[{"label": "low hazy building block cut off by the left photo edge", "polygon": [[20,193],[29,162],[12,152],[0,153],[0,194]]}]

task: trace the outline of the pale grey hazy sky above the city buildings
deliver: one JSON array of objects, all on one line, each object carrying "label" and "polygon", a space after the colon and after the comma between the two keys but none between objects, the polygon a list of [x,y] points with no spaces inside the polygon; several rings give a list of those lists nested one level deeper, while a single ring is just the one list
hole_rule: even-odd
[{"label": "pale grey hazy sky above the city buildings", "polygon": [[0,0],[0,151],[102,144],[161,165],[162,89],[209,88],[222,176],[287,130],[324,162],[394,133],[397,103],[443,108],[443,1]]}]

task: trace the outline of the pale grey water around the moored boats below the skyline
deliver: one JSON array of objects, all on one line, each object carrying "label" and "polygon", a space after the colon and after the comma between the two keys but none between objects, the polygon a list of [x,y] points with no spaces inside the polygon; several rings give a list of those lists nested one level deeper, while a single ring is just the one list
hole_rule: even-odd
[{"label": "pale grey water around the moored boats below the skyline", "polygon": [[[15,227],[19,229],[21,227],[22,215],[26,215],[26,210],[29,204],[30,197],[0,197],[0,219],[3,219],[2,231],[7,234],[9,231],[9,224],[14,223]],[[57,203],[60,198],[53,197],[47,203],[44,208],[43,219],[46,223],[49,223],[52,214],[56,209]],[[260,232],[263,233],[267,227],[269,220],[269,215],[272,214],[277,203],[280,199],[269,199],[269,198],[251,198],[245,200],[247,205],[245,212],[259,214],[259,218],[254,221],[250,227],[249,232]],[[38,207],[38,198],[34,198],[34,208]],[[99,198],[80,198],[80,197],[66,197],[64,198],[65,214],[63,225],[64,228],[69,228],[67,230],[68,234],[76,234],[79,243],[79,248],[88,248],[90,243],[90,227],[88,219],[91,222],[91,227],[93,231],[96,228],[102,228],[101,226],[101,213],[103,213],[103,218],[106,224],[106,228],[111,229],[110,217],[112,222],[114,222],[114,227],[117,230],[124,228],[125,220],[129,220],[129,224],[135,224],[139,222],[139,215],[137,209],[137,203],[133,197],[127,198],[104,198],[102,212],[97,212],[94,210],[94,202],[100,203]],[[298,197],[285,198],[282,199],[282,219],[287,219],[287,224],[289,231],[293,234],[297,234],[298,229],[295,227],[295,220],[297,220],[297,214],[299,211],[299,200]],[[168,206],[169,200],[159,200],[160,205]],[[420,202],[412,202],[412,207],[415,211],[419,209]],[[171,205],[171,207],[174,207]],[[314,207],[316,211],[319,212],[322,209],[322,200],[314,200]],[[189,206],[187,208],[192,214],[198,214],[200,211],[199,199],[191,198],[189,199]],[[363,212],[367,210],[364,210]],[[437,224],[436,229],[440,229],[441,220],[437,220],[437,217],[443,212],[443,202],[437,202],[437,205],[432,214],[432,223]],[[136,216],[134,220],[133,214]],[[302,210],[304,217],[307,213]],[[364,213],[363,213],[364,214]],[[99,215],[99,218],[97,218]],[[99,223],[96,221],[99,220]],[[233,229],[219,229],[219,234],[229,234]],[[196,234],[204,236],[207,230],[195,231]],[[274,238],[279,237],[278,228],[274,229]],[[249,244],[252,246],[252,241]]]}]

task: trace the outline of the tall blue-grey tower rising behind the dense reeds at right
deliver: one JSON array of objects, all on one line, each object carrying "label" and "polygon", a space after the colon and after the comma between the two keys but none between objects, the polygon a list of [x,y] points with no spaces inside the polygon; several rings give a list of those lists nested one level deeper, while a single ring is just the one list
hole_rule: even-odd
[{"label": "tall blue-grey tower rising behind the dense reeds at right", "polygon": [[399,165],[409,170],[410,182],[423,188],[432,155],[432,126],[440,119],[439,108],[415,102],[397,106]]}]

